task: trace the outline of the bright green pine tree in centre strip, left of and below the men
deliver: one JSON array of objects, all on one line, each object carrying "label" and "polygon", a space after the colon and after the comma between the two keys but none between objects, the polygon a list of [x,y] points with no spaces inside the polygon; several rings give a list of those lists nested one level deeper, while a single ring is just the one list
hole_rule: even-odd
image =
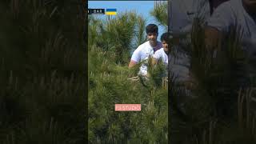
[{"label": "bright green pine tree in centre strip, left of and below the men", "polygon": [[[138,73],[138,66],[129,70],[126,54],[145,42],[145,22],[134,11],[118,13],[106,22],[90,18],[90,143],[167,143],[168,101],[167,90],[159,86],[162,79],[127,80]],[[162,70],[149,69],[152,75]],[[116,112],[116,103],[139,103],[142,111]]]}]

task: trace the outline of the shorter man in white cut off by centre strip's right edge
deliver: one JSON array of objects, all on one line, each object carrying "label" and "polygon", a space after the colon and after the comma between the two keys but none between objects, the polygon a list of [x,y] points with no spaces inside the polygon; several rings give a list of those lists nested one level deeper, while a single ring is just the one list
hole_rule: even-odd
[{"label": "shorter man in white cut off by centre strip's right edge", "polygon": [[166,71],[164,74],[167,74],[168,71],[168,54],[170,52],[170,46],[168,46],[168,40],[170,40],[170,34],[164,33],[161,36],[162,48],[156,51],[153,55],[153,65],[158,64],[158,62],[163,62],[166,66]]}]

